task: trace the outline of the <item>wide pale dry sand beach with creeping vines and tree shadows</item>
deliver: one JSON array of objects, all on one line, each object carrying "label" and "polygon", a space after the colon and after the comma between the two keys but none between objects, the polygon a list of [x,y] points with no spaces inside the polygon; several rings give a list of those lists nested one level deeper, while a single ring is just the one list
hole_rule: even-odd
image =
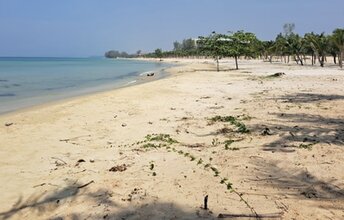
[{"label": "wide pale dry sand beach with creeping vines and tree shadows", "polygon": [[0,116],[0,218],[344,218],[344,71],[169,62],[169,78]]}]

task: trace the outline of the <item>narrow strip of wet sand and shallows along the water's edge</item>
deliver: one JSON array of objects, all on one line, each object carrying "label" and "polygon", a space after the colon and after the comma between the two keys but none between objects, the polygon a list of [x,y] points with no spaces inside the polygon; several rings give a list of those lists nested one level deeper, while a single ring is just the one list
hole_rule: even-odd
[{"label": "narrow strip of wet sand and shallows along the water's edge", "polygon": [[[152,60],[141,60],[141,61],[154,62]],[[141,85],[141,84],[145,84],[145,83],[149,83],[149,82],[153,82],[153,81],[156,81],[156,80],[161,80],[161,79],[170,77],[171,76],[170,69],[173,69],[177,65],[175,65],[174,63],[171,63],[171,62],[165,62],[165,63],[172,64],[174,66],[163,68],[157,74],[155,73],[154,76],[142,75],[145,72],[140,73],[139,75],[137,75],[134,78],[135,82],[130,81],[130,82],[127,82],[127,83],[125,83],[123,85],[115,85],[115,86],[113,86],[113,88],[109,88],[109,85],[107,85],[106,88],[103,87],[103,89],[100,89],[99,91],[81,92],[82,94],[77,94],[76,93],[76,94],[74,94],[72,96],[69,96],[69,97],[67,97],[67,96],[66,97],[60,97],[60,98],[57,98],[56,100],[50,100],[50,101],[49,100],[45,100],[42,103],[33,104],[31,106],[19,107],[18,109],[15,109],[15,110],[9,110],[9,111],[6,111],[6,112],[0,112],[0,118],[7,117],[7,116],[13,116],[15,114],[24,113],[26,111],[37,110],[39,108],[46,108],[46,107],[49,107],[50,105],[63,104],[64,102],[73,101],[75,99],[80,99],[80,98],[83,98],[83,97],[85,98],[85,97],[92,96],[92,95],[99,95],[99,94],[102,94],[102,93],[108,93],[108,92],[115,91],[115,90],[118,90],[118,89],[124,89],[124,88],[131,87],[131,86],[137,86],[137,85]],[[154,72],[154,70],[149,71],[149,72]],[[98,87],[102,87],[102,86],[98,86]],[[79,91],[79,93],[80,93],[80,91]],[[39,97],[39,99],[42,99],[42,97]]]}]

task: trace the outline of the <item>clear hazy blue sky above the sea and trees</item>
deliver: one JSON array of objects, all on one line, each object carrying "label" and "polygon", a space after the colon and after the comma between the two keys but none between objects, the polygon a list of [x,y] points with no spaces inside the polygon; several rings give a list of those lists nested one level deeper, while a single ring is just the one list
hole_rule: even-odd
[{"label": "clear hazy blue sky above the sea and trees", "polygon": [[261,40],[344,28],[343,0],[0,0],[0,56],[88,57],[170,50],[212,31]]}]

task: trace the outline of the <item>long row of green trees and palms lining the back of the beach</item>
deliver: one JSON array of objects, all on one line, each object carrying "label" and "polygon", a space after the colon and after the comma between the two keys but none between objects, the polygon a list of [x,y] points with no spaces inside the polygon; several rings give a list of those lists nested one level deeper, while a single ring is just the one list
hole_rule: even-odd
[{"label": "long row of green trees and palms lining the back of the beach", "polygon": [[294,24],[285,24],[284,32],[271,41],[261,41],[254,33],[245,31],[227,34],[212,32],[208,36],[200,36],[197,39],[175,41],[171,51],[156,49],[155,52],[144,56],[160,59],[163,57],[212,57],[217,63],[218,71],[219,60],[225,57],[234,58],[236,69],[239,68],[239,58],[258,58],[269,62],[278,59],[285,63],[294,61],[299,65],[304,65],[307,60],[311,60],[312,65],[318,62],[323,67],[328,56],[332,56],[334,64],[343,67],[344,29],[337,28],[329,35],[311,32],[301,36],[294,32],[294,28]]}]

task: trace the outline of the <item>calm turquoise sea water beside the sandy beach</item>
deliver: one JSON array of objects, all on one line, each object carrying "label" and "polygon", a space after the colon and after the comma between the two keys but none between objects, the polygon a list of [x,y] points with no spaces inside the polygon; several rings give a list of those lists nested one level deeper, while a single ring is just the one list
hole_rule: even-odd
[{"label": "calm turquoise sea water beside the sandy beach", "polygon": [[118,88],[168,64],[105,58],[0,58],[0,113]]}]

